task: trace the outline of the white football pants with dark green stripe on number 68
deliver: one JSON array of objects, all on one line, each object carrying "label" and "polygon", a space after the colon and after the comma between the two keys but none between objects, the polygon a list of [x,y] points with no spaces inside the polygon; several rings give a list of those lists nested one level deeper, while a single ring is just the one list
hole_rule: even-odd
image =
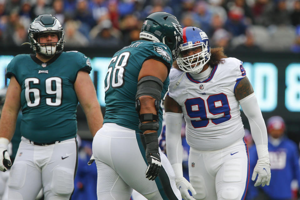
[{"label": "white football pants with dark green stripe on number 68", "polygon": [[143,138],[134,130],[105,123],[93,139],[98,200],[129,200],[133,189],[151,200],[181,200],[168,158],[160,151],[162,166],[154,181],[145,178],[148,163]]}]

